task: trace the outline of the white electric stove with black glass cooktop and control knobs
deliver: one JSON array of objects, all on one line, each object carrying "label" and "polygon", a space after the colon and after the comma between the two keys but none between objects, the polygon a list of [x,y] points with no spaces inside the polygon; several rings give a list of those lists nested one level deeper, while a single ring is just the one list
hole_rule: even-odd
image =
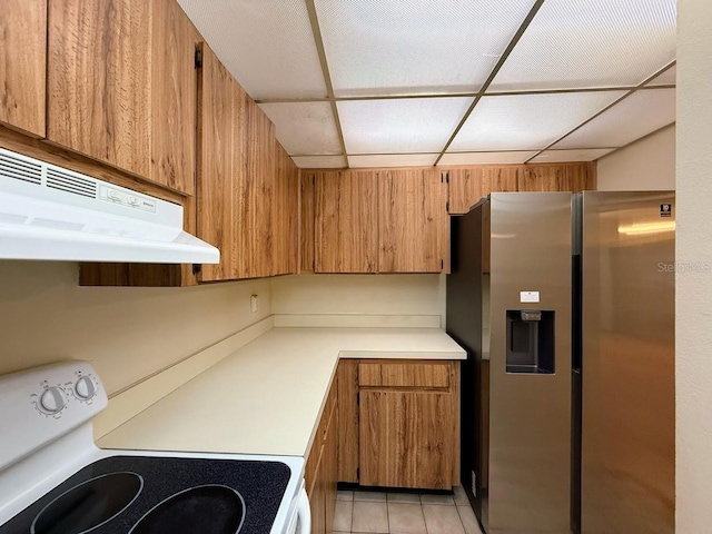
[{"label": "white electric stove with black glass cooktop and control knobs", "polygon": [[99,449],[106,406],[86,362],[0,377],[0,534],[309,532],[303,458]]}]

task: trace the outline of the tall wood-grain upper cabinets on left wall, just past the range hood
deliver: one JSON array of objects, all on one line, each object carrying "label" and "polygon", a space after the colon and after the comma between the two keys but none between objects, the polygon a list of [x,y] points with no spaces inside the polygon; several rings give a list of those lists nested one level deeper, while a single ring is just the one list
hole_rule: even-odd
[{"label": "tall wood-grain upper cabinets on left wall, just past the range hood", "polygon": [[201,281],[296,273],[298,170],[275,127],[202,47],[198,237],[220,249]]}]

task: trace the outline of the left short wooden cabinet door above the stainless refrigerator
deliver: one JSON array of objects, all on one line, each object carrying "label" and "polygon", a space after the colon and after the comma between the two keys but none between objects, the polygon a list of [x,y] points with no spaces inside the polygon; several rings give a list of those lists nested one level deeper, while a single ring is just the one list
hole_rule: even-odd
[{"label": "left short wooden cabinet door above the stainless refrigerator", "polygon": [[451,215],[466,214],[491,192],[517,190],[516,166],[457,168],[447,172]]}]

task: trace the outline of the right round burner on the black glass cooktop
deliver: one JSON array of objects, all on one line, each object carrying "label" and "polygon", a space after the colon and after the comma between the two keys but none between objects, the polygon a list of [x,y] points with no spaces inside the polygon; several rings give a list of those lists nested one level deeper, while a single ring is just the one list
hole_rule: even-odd
[{"label": "right round burner on the black glass cooktop", "polygon": [[176,493],[149,510],[129,534],[237,534],[245,501],[231,487],[207,484]]}]

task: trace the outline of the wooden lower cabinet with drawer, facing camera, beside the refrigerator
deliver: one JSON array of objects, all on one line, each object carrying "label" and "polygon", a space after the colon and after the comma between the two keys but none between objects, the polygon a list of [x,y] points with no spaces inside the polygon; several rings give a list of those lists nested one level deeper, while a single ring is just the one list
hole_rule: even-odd
[{"label": "wooden lower cabinet with drawer, facing camera, beside the refrigerator", "polygon": [[429,490],[459,483],[458,362],[348,359],[337,376],[339,482]]}]

